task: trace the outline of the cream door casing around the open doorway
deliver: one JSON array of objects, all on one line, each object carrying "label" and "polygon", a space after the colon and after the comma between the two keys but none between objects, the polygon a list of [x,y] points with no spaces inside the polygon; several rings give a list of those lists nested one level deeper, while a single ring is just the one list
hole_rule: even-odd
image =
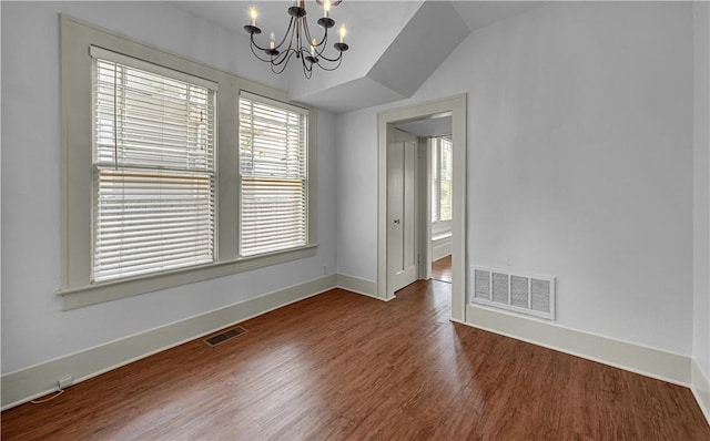
[{"label": "cream door casing around the open doorway", "polygon": [[[395,298],[397,285],[390,274],[388,257],[389,235],[396,217],[390,218],[388,207],[388,134],[398,124],[450,116],[453,142],[452,188],[452,320],[464,321],[466,305],[466,256],[465,256],[465,204],[466,204],[466,95],[426,102],[395,109],[378,114],[378,191],[377,191],[377,296],[383,300]],[[426,164],[426,162],[424,163]],[[420,201],[420,198],[419,198]],[[429,205],[429,204],[427,204]],[[419,211],[419,213],[423,213]],[[419,217],[420,219],[420,217]],[[430,228],[420,234],[427,243],[432,240]],[[420,243],[420,242],[419,242]],[[417,253],[417,278],[430,277],[430,246],[419,246]]]}]

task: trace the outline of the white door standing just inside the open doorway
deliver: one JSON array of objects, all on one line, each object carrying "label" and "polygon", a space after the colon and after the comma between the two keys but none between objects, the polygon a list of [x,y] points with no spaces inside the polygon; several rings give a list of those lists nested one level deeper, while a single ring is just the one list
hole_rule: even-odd
[{"label": "white door standing just inside the open doorway", "polygon": [[387,134],[387,291],[417,279],[416,136]]}]

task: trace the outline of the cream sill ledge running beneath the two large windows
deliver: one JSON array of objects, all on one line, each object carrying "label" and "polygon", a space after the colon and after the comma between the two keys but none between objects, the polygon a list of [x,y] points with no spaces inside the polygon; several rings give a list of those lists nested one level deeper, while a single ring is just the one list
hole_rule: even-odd
[{"label": "cream sill ledge running beneath the two large windows", "polygon": [[240,258],[229,261],[219,261],[191,268],[181,268],[148,276],[134,277],[124,280],[106,281],[102,284],[59,289],[57,295],[62,299],[62,309],[75,309],[84,306],[97,305],[104,301],[118,300],[125,297],[173,288],[180,285],[193,284],[215,277],[244,273],[266,266],[283,264],[316,254],[317,245],[288,249]]}]

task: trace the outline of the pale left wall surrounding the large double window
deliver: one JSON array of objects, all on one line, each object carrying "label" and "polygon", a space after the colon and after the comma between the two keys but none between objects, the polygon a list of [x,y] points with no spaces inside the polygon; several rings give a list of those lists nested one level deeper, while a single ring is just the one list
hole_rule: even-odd
[{"label": "pale left wall surrounding the large double window", "polygon": [[335,120],[318,112],[317,256],[61,311],[59,13],[282,85],[246,39],[159,2],[2,2],[2,372],[333,274]]}]

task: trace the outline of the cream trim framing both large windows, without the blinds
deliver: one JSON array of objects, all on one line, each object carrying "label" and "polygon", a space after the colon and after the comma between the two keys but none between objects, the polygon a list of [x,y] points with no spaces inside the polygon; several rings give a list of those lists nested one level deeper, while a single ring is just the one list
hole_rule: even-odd
[{"label": "cream trim framing both large windows, without the blinds", "polygon": [[[219,84],[217,95],[217,254],[215,263],[122,280],[91,284],[91,57],[95,45]],[[304,247],[239,257],[239,96],[241,91],[287,103],[285,92],[235,76],[140,41],[61,16],[62,258],[57,294],[73,309],[214,277],[247,271],[316,254],[316,110],[308,117],[308,244]],[[224,146],[223,150],[220,146]]]}]

